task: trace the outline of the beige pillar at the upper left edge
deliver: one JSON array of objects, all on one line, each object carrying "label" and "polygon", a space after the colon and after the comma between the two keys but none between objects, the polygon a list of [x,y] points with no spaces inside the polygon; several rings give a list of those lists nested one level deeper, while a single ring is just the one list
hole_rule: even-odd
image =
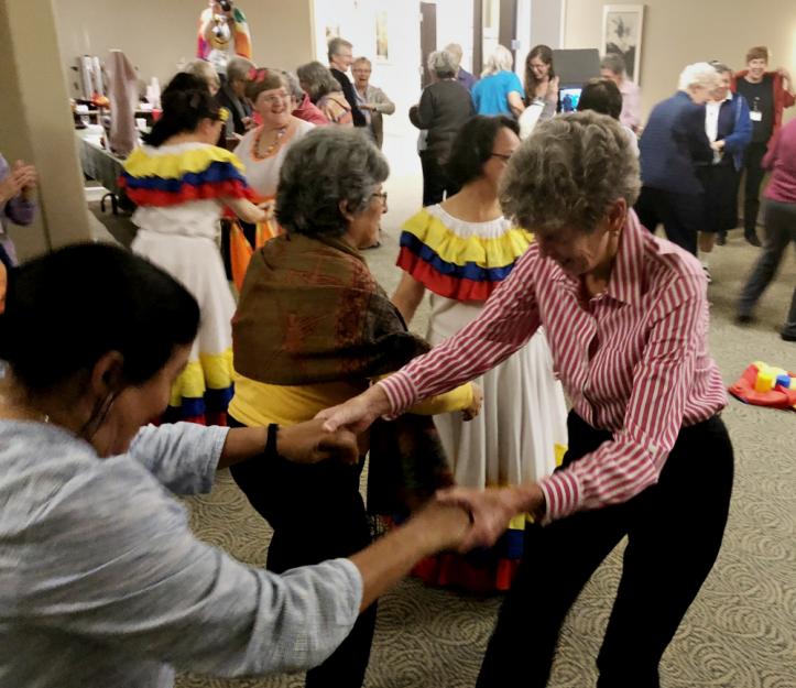
[{"label": "beige pillar at the upper left edge", "polygon": [[[33,225],[11,237],[20,259],[90,238],[50,0],[0,2],[0,152],[39,170]],[[46,84],[46,88],[42,88]]]}]

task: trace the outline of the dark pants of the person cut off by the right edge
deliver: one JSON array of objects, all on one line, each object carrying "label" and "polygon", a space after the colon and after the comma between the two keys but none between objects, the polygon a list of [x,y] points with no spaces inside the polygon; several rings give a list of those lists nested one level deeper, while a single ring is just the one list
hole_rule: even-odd
[{"label": "dark pants of the person cut off by the right edge", "polygon": [[[788,244],[796,248],[796,204],[766,200],[763,254],[757,259],[757,263],[741,292],[741,298],[738,302],[740,315],[752,315],[757,301],[771,284],[776,271],[779,270]],[[790,297],[790,310],[782,331],[787,337],[796,337],[796,287]]]}]

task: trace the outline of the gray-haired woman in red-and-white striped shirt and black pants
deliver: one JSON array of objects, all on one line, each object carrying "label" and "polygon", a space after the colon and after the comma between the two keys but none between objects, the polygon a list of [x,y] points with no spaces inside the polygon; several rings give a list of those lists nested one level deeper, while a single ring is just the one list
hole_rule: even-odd
[{"label": "gray-haired woman in red-and-white striped shirt and black pants", "polygon": [[571,401],[569,451],[538,483],[454,489],[467,545],[523,511],[525,558],[490,640],[478,686],[545,686],[569,607],[629,537],[598,658],[600,688],[656,688],[658,663],[716,560],[732,488],[719,418],[724,385],[707,351],[699,262],[639,223],[639,166],[621,127],[593,112],[538,127],[502,183],[506,217],[535,244],[479,318],[341,406],[327,427],[366,428],[481,374],[544,325]]}]

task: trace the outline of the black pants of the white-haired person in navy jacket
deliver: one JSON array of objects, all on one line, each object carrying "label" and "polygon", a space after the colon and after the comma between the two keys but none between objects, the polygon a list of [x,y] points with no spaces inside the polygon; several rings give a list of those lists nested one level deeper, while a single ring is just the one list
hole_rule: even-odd
[{"label": "black pants of the white-haired person in navy jacket", "polygon": [[669,241],[697,254],[697,233],[705,227],[702,194],[675,194],[643,186],[635,211],[651,232],[663,225]]}]

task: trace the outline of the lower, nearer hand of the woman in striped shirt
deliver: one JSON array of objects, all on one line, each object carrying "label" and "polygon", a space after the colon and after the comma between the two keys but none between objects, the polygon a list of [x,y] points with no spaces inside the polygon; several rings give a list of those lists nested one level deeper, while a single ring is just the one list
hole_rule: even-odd
[{"label": "lower, nearer hand of the woman in striped shirt", "polygon": [[514,488],[448,488],[437,492],[441,504],[455,504],[470,512],[472,525],[459,543],[459,552],[491,547],[525,505]]}]

